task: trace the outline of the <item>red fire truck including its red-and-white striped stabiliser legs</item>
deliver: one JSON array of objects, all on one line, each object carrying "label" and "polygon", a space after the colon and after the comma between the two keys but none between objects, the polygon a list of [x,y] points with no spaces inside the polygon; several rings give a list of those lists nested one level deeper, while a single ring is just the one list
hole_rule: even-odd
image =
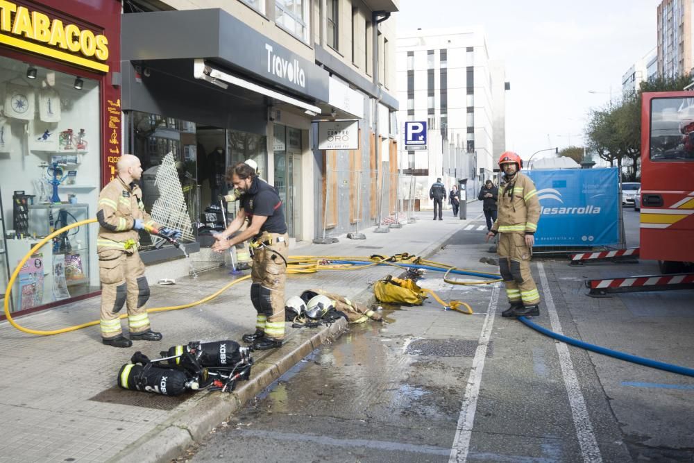
[{"label": "red fire truck including its red-and-white striped stabiliser legs", "polygon": [[694,289],[694,92],[641,101],[640,247],[572,255],[572,264],[657,260],[661,274],[586,280],[588,296]]}]

